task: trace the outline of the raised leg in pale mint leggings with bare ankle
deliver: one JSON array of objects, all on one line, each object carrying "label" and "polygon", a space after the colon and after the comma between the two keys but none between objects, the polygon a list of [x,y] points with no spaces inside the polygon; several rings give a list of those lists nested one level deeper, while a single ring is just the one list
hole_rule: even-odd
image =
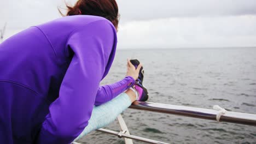
[{"label": "raised leg in pale mint leggings with bare ankle", "polygon": [[131,89],[128,89],[125,93],[121,93],[118,97],[108,101],[107,103],[95,106],[92,110],[89,124],[74,141],[77,141],[93,130],[106,127],[108,124],[112,123],[117,116],[127,109],[135,100],[136,94]]}]

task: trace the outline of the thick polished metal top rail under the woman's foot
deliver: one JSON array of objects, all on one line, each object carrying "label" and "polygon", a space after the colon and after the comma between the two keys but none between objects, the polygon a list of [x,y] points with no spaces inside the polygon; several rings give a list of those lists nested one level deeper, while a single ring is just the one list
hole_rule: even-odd
[{"label": "thick polished metal top rail under the woman's foot", "polygon": [[[189,106],[167,105],[135,101],[129,108],[137,110],[147,110],[153,112],[167,113],[179,116],[194,117],[201,119],[216,120],[219,111],[211,109],[202,109]],[[256,126],[256,115],[240,112],[226,111],[219,119],[220,122],[238,123]]]}]

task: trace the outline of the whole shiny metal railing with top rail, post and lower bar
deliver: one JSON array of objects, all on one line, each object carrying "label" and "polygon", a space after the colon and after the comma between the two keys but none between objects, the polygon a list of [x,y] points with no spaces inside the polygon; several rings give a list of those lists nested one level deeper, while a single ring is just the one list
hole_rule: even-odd
[{"label": "whole shiny metal railing with top rail, post and lower bar", "polygon": [[[218,119],[217,116],[220,113],[220,111],[212,110],[212,109],[202,109],[197,107],[167,105],[167,104],[150,103],[150,102],[142,102],[142,101],[135,101],[129,108],[137,109],[137,110],[152,111],[152,112],[167,113],[167,114],[179,115],[179,116],[185,116],[185,117],[208,119],[213,121],[217,121]],[[126,129],[127,127],[125,122],[123,121],[123,118],[119,116],[118,121],[121,128],[120,132],[112,131],[108,129],[98,129],[97,131],[101,131],[103,133],[108,133],[112,135],[117,135],[119,138],[124,137],[125,139],[128,138],[128,139],[133,139],[133,140],[138,140],[138,141],[143,141],[148,143],[166,144],[165,142],[160,142],[160,141],[146,139],[144,137],[130,135],[129,130]],[[225,113],[222,113],[222,115],[220,116],[219,122],[229,122],[229,123],[256,126],[256,115],[249,114],[249,113],[226,111]],[[125,142],[126,144],[132,143],[132,141],[127,141],[127,140],[125,140]],[[75,142],[74,144],[79,144],[79,143]]]}]

